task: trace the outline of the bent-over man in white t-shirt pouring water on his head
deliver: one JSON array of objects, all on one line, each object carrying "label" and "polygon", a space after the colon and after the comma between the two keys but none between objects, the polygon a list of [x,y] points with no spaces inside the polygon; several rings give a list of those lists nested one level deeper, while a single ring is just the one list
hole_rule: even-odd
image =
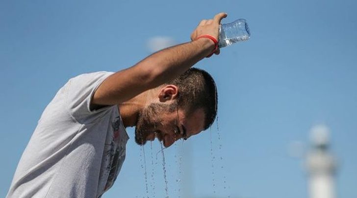
[{"label": "bent-over man in white t-shirt pouring water on his head", "polygon": [[135,66],[72,78],[46,107],[15,172],[8,198],[98,198],[125,159],[126,127],[139,145],[165,147],[205,129],[217,113],[212,77],[190,68],[219,54],[219,24],[203,20],[192,42],[152,54]]}]

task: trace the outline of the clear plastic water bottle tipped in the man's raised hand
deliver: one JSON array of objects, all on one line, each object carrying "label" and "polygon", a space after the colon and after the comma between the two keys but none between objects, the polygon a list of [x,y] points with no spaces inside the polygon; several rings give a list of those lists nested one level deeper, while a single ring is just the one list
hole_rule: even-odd
[{"label": "clear plastic water bottle tipped in the man's raised hand", "polygon": [[237,21],[221,24],[219,26],[219,44],[222,48],[231,44],[247,41],[251,37],[248,23],[245,19],[238,19]]}]

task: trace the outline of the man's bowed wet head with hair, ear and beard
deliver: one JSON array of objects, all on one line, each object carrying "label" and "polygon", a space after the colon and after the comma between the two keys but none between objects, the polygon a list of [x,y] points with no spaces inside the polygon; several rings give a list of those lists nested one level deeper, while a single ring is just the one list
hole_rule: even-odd
[{"label": "man's bowed wet head with hair, ear and beard", "polygon": [[[156,90],[157,89],[157,90]],[[176,79],[155,88],[156,102],[139,113],[135,141],[155,136],[165,147],[209,128],[217,115],[217,88],[204,70],[190,68]]]}]

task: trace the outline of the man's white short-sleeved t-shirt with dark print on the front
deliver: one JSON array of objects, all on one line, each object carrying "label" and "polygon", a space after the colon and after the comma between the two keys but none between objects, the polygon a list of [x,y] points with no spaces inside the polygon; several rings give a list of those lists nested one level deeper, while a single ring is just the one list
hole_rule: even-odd
[{"label": "man's white short-sleeved t-shirt with dark print on the front", "polygon": [[7,198],[98,198],[114,183],[128,134],[118,106],[90,110],[112,72],[72,78],[46,107],[20,159]]}]

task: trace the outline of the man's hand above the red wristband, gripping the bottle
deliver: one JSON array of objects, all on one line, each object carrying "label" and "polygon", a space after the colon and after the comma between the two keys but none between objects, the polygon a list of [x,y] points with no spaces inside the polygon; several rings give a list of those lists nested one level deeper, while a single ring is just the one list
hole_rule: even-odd
[{"label": "man's hand above the red wristband, gripping the bottle", "polygon": [[[223,18],[227,17],[227,13],[219,13],[214,16],[213,19],[202,20],[196,29],[191,34],[191,41],[195,41],[201,35],[210,35],[217,39],[219,42],[219,25]],[[215,54],[219,54],[219,48],[215,51]]]}]

